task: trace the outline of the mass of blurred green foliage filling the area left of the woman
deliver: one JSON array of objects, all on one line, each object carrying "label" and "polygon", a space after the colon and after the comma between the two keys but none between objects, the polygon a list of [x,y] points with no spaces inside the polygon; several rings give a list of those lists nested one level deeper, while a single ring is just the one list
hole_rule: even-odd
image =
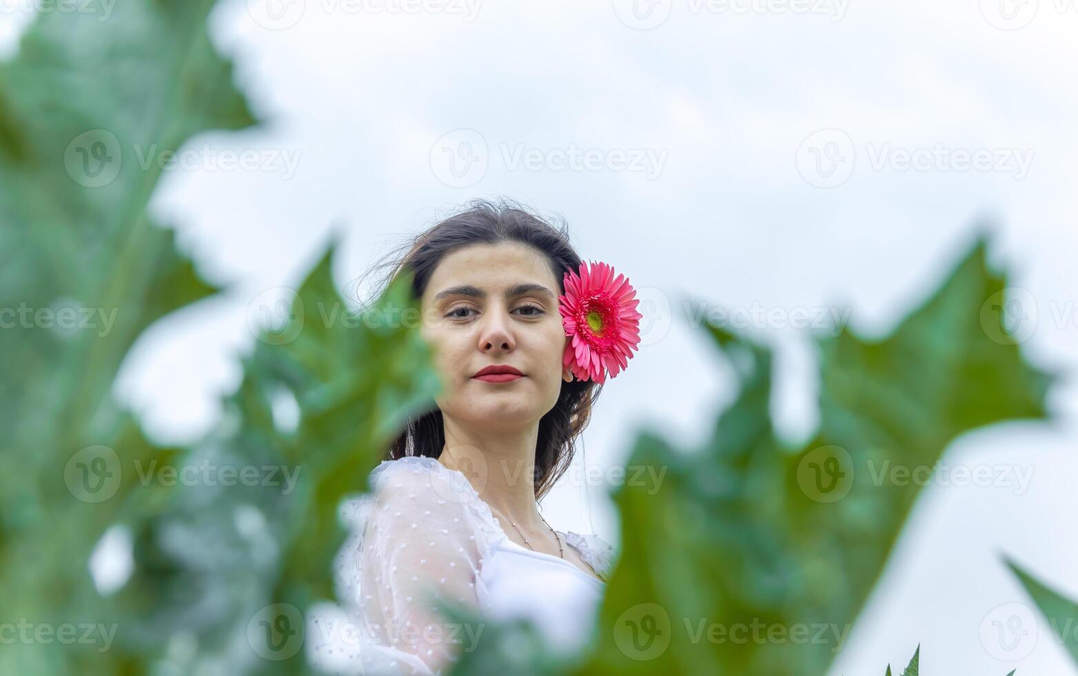
[{"label": "mass of blurred green foliage filling the area left of the woman", "polygon": [[[3,618],[119,629],[107,650],[101,640],[5,646],[3,674],[144,673],[166,657],[185,673],[305,671],[295,641],[260,659],[259,624],[248,625],[271,604],[333,598],[338,502],[364,488],[389,434],[438,387],[426,345],[402,320],[409,280],[358,320],[327,254],[289,322],[245,359],[203,443],[155,449],[112,399],[139,333],[213,291],[148,215],[161,168],[137,162],[198,132],[253,124],[207,40],[212,4],[132,0],[107,23],[43,13],[0,69],[0,306],[56,317],[69,307],[97,329],[32,315],[0,331],[4,381],[19,384],[0,406],[3,466],[19,470],[0,473]],[[282,426],[275,404],[298,419]],[[257,468],[266,481],[185,485],[160,473],[207,461]],[[296,479],[288,494],[287,472]],[[112,524],[133,534],[135,572],[102,599],[87,561]]]}]

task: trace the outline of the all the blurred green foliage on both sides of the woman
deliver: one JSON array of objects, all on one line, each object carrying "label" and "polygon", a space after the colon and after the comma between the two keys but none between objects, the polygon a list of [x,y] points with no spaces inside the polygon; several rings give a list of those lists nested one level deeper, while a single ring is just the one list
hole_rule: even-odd
[{"label": "all the blurred green foliage on both sides of the woman", "polygon": [[[30,313],[0,330],[4,382],[17,384],[0,406],[0,459],[17,469],[0,472],[0,621],[118,627],[105,650],[4,646],[2,674],[309,672],[304,618],[335,596],[342,498],[365,488],[386,442],[439,387],[405,319],[409,280],[347,320],[331,246],[285,301],[287,321],[243,358],[205,439],[155,447],[112,398],[138,335],[216,291],[149,216],[161,168],[135,162],[254,124],[207,39],[212,4],[129,0],[105,23],[42,14],[0,65],[0,307]],[[820,423],[800,447],[772,425],[772,350],[706,326],[738,396],[701,447],[650,431],[636,441],[627,465],[661,479],[614,495],[622,552],[593,648],[553,656],[534,627],[490,625],[457,672],[826,673],[920,492],[879,472],[935,466],[981,426],[1045,417],[1049,376],[992,323],[999,308],[986,299],[1005,286],[978,243],[889,335],[840,327],[817,339]],[[68,309],[96,317],[92,330],[42,318]],[[189,485],[160,473],[207,464],[277,480]],[[107,532],[127,534],[133,570],[99,593],[88,562]],[[1075,615],[1015,571],[1046,615]],[[785,638],[713,641],[704,620]]]}]

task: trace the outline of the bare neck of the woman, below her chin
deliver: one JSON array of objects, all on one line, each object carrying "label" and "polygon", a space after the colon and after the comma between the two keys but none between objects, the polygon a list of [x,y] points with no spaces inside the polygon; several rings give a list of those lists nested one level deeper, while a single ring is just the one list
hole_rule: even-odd
[{"label": "bare neck of the woman, below her chin", "polygon": [[545,528],[535,497],[539,423],[525,429],[476,431],[443,419],[445,445],[439,461],[460,471],[483,501],[517,526]]}]

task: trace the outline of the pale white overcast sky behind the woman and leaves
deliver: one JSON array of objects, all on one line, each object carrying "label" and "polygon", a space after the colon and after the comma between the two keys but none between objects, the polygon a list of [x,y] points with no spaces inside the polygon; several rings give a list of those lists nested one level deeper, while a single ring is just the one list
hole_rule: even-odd
[{"label": "pale white overcast sky behind the woman and leaves", "polygon": [[[8,52],[15,4],[0,13]],[[886,330],[979,219],[1022,289],[1023,347],[1074,369],[1076,4],[226,0],[211,35],[266,123],[193,139],[153,209],[230,292],[155,325],[118,392],[160,440],[197,438],[238,382],[252,308],[294,287],[332,231],[346,287],[399,237],[502,195],[567,219],[581,256],[652,308],[584,434],[589,465],[617,465],[644,426],[697,442],[733,396],[695,299],[778,342],[774,413],[808,433],[813,364],[787,325],[835,306]],[[226,151],[254,168],[221,168]],[[1054,428],[950,449],[948,463],[1028,484],[926,489],[832,674],[904,665],[918,643],[927,673],[1073,671],[1047,623],[1006,605],[1026,597],[999,554],[1078,597],[1076,397],[1068,381],[1053,392]],[[606,489],[566,481],[544,514],[617,542]],[[1000,643],[1012,616],[1027,633]]]}]

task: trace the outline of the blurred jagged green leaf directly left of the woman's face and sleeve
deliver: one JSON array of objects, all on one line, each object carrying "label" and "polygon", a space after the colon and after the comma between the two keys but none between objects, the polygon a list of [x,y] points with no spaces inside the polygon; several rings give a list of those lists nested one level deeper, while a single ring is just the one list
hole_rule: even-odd
[{"label": "blurred jagged green leaf directly left of the woman's face and sleeve", "polygon": [[[309,670],[303,650],[277,652],[255,632],[237,651],[230,637],[248,632],[266,608],[303,616],[335,599],[343,498],[367,488],[407,416],[434,405],[440,383],[417,330],[410,277],[357,314],[337,294],[332,254],[331,247],[291,299],[288,321],[259,336],[220,428],[180,460],[280,468],[296,478],[294,487],[184,486],[157,512],[143,512],[119,612],[140,626],[132,650],[161,653],[177,632],[196,637],[198,654],[172,668]],[[294,429],[275,412],[281,397],[294,402]],[[237,524],[237,513],[252,526]]]}]

